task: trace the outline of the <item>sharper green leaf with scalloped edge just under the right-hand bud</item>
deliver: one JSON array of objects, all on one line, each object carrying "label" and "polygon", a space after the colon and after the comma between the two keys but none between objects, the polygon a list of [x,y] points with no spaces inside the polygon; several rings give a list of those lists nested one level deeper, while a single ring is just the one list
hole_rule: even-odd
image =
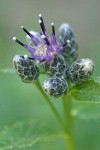
[{"label": "sharper green leaf with scalloped edge just under the right-hand bud", "polygon": [[99,78],[75,85],[70,94],[75,101],[85,103],[100,103]]}]

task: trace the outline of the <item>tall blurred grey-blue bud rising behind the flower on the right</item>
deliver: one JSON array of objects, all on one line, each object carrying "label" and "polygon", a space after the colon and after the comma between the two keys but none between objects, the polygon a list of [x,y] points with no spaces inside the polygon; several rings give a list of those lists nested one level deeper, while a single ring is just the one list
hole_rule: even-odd
[{"label": "tall blurred grey-blue bud rising behind the flower on the right", "polygon": [[78,57],[78,44],[69,24],[64,23],[58,30],[58,42],[64,45],[62,55],[70,64]]}]

